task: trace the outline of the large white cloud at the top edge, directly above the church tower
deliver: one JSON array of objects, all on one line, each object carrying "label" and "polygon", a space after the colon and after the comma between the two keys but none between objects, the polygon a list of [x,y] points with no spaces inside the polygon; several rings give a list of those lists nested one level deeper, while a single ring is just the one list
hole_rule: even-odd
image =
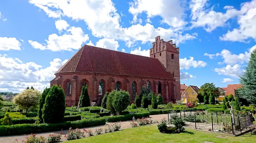
[{"label": "large white cloud at the top edge, directly above the church tower", "polygon": [[139,14],[146,13],[148,20],[161,16],[162,22],[175,28],[186,24],[182,19],[184,8],[181,7],[180,0],[134,0],[130,2],[129,12],[133,15],[133,22],[138,21]]}]

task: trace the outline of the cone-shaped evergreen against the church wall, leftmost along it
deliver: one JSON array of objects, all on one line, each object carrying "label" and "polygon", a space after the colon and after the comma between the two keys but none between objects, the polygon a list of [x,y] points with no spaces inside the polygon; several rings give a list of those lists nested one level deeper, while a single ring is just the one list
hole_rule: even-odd
[{"label": "cone-shaped evergreen against the church wall, leftmost along it", "polygon": [[84,87],[82,87],[82,91],[81,91],[81,95],[79,98],[79,103],[77,108],[81,108],[81,107],[88,107],[90,106],[90,96],[88,94],[88,88],[87,85]]}]

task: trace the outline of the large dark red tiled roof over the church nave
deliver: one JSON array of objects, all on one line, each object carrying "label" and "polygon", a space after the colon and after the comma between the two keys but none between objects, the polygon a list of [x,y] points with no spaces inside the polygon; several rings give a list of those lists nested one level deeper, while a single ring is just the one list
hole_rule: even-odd
[{"label": "large dark red tiled roof over the church nave", "polygon": [[[84,45],[56,73],[92,72],[173,79],[157,58]],[[55,74],[56,74],[55,73]]]}]

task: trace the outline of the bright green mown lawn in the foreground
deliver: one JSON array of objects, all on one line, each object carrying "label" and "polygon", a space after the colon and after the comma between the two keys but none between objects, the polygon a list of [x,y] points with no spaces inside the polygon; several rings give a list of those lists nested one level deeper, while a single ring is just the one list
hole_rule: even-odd
[{"label": "bright green mown lawn in the foreground", "polygon": [[223,136],[216,133],[209,133],[199,130],[185,129],[182,133],[167,134],[160,133],[156,125],[128,128],[122,131],[106,133],[103,135],[87,137],[79,140],[67,141],[65,143],[130,143],[130,142],[168,142],[168,143],[203,143],[204,141],[214,143],[255,143],[256,135],[247,133],[239,137],[227,136],[227,138],[217,138]]}]

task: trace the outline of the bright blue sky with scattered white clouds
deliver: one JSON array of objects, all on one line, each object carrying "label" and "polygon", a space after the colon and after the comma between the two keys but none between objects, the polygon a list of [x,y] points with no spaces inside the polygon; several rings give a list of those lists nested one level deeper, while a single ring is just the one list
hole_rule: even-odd
[{"label": "bright blue sky with scattered white clouds", "polygon": [[256,48],[256,0],[0,0],[0,91],[49,87],[84,44],[149,56],[180,47],[181,84],[239,83]]}]

